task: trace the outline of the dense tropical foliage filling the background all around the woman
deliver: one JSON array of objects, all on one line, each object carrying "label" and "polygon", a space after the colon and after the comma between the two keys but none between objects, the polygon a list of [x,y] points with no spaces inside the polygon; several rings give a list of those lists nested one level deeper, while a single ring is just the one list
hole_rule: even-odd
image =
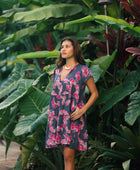
[{"label": "dense tropical foliage filling the background all around the woman", "polygon": [[[65,36],[79,40],[99,91],[87,112],[89,149],[76,153],[76,169],[139,169],[139,11],[139,0],[112,0],[108,16],[96,0],[1,0],[0,139],[5,154],[12,141],[21,145],[14,169],[64,168],[61,151],[44,146],[52,73]],[[86,100],[89,95],[86,89]]]}]

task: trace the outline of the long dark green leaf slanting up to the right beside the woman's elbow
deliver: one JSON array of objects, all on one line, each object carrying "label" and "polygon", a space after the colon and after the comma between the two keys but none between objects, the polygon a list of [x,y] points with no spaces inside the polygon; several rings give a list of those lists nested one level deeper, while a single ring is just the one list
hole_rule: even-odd
[{"label": "long dark green leaf slanting up to the right beside the woman's elbow", "polygon": [[123,98],[135,91],[140,81],[139,77],[139,72],[132,71],[128,74],[122,84],[105,90],[98,99],[99,103],[105,103],[101,109],[100,115],[104,114],[106,111],[111,109],[116,103],[118,103]]}]

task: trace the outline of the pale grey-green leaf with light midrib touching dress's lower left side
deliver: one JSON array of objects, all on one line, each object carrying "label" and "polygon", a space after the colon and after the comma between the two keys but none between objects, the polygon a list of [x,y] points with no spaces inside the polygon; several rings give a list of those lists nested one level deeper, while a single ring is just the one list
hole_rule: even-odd
[{"label": "pale grey-green leaf with light midrib touching dress's lower left side", "polygon": [[33,133],[38,129],[38,127],[45,124],[47,122],[47,109],[48,107],[44,108],[43,113],[40,115],[31,114],[20,119],[13,132],[15,136]]}]

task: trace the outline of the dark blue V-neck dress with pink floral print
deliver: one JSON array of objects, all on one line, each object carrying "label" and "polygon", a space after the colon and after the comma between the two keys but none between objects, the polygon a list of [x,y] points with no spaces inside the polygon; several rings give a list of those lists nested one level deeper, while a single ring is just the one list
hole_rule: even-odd
[{"label": "dark blue V-neck dress with pink floral print", "polygon": [[46,148],[59,144],[80,151],[87,150],[86,114],[72,121],[70,114],[84,106],[85,83],[92,77],[87,66],[78,64],[61,81],[62,67],[55,70],[46,130]]}]

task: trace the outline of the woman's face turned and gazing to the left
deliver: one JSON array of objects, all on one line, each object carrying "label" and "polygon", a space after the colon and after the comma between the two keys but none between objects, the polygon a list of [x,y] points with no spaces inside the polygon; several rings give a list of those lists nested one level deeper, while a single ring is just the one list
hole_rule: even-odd
[{"label": "woman's face turned and gazing to the left", "polygon": [[74,47],[69,40],[63,41],[60,50],[61,56],[64,59],[70,59],[74,57]]}]

